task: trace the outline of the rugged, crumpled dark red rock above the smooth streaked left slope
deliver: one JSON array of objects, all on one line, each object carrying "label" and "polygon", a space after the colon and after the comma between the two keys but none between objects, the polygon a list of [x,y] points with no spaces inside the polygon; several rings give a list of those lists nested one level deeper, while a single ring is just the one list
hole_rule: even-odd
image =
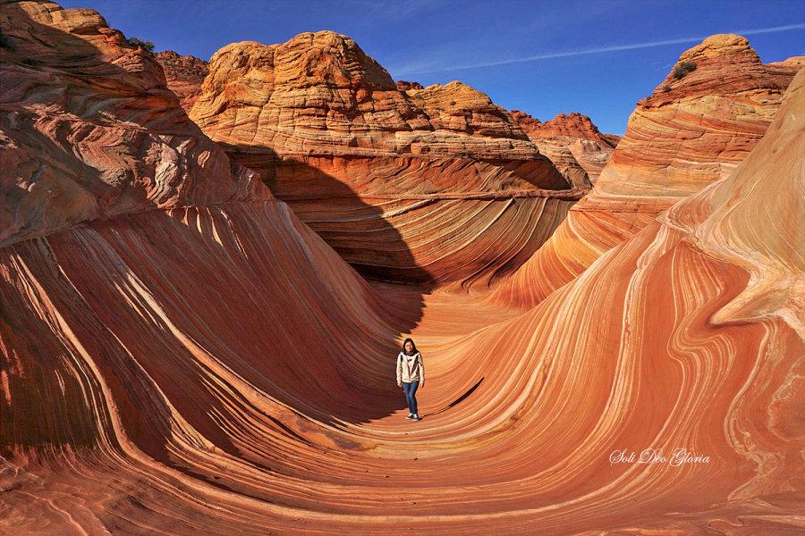
[{"label": "rugged, crumpled dark red rock above the smooth streaked left slope", "polygon": [[100,15],[50,3],[3,11],[12,47],[0,49],[0,245],[120,214],[270,197]]}]

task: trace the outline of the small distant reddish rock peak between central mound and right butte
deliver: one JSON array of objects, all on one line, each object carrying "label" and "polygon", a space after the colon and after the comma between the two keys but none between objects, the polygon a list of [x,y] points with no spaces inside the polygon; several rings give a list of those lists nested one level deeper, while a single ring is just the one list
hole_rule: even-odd
[{"label": "small distant reddish rock peak between central mound and right butte", "polygon": [[576,182],[595,182],[620,139],[614,134],[601,134],[589,117],[577,112],[560,113],[547,122],[519,110],[511,114],[539,152]]}]

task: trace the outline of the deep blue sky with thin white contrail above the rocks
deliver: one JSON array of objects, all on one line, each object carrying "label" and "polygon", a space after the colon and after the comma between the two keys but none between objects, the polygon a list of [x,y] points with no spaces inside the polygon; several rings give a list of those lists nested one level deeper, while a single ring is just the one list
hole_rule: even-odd
[{"label": "deep blue sky with thin white contrail above the rocks", "polygon": [[426,86],[461,80],[505,108],[543,121],[585,113],[614,134],[623,134],[635,102],[657,87],[679,54],[708,35],[743,30],[765,63],[805,55],[805,0],[61,4],[96,9],[110,26],[153,41],[157,50],[203,59],[233,41],[282,43],[303,31],[333,29],[355,39],[394,80]]}]

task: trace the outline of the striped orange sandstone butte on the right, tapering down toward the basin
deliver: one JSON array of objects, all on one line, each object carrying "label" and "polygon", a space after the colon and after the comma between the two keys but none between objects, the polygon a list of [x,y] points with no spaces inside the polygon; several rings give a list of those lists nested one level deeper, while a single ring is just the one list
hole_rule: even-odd
[{"label": "striped orange sandstone butte on the right, tapering down toward the basin", "polygon": [[[674,76],[686,63],[695,67]],[[733,34],[712,36],[683,53],[631,113],[589,195],[496,297],[535,305],[657,214],[734,172],[775,117],[798,63],[764,65],[747,40]]]}]

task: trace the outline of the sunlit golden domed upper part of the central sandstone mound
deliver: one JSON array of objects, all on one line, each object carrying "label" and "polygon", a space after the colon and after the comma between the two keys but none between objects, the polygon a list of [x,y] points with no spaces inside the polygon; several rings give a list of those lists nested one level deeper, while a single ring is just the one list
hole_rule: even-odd
[{"label": "sunlit golden domed upper part of the central sandstone mound", "polygon": [[191,116],[216,140],[244,151],[393,157],[465,152],[544,162],[489,97],[459,82],[412,90],[411,96],[352,39],[335,32],[304,33],[283,45],[233,43],[213,54],[209,68]]}]

